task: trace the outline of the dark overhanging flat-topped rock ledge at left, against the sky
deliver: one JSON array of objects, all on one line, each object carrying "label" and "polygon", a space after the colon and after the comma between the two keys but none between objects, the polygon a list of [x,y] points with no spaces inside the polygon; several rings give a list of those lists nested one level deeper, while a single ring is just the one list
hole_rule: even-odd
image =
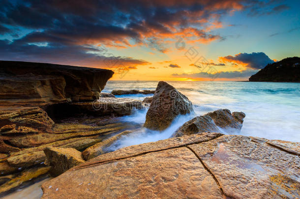
[{"label": "dark overhanging flat-topped rock ledge at left, against the sky", "polygon": [[46,106],[97,99],[111,70],[49,63],[0,61],[0,104]]}]

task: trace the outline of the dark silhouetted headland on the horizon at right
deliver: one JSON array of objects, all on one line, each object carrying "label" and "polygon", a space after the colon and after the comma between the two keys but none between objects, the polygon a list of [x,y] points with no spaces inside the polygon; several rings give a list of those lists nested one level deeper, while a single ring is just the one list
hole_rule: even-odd
[{"label": "dark silhouetted headland on the horizon at right", "polygon": [[250,82],[300,82],[300,57],[268,64],[249,78]]}]

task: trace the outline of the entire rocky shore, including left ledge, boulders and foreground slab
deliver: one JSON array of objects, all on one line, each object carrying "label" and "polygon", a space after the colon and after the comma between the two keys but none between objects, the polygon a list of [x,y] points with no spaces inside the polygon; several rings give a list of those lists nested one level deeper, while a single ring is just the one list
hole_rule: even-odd
[{"label": "entire rocky shore, including left ledge, boulders and foreground slab", "polygon": [[[222,134],[240,131],[242,112],[195,115],[167,140],[110,152],[123,136],[192,114],[192,103],[165,82],[101,93],[110,70],[0,64],[0,197],[50,175],[45,199],[300,197],[300,143]],[[124,93],[153,97],[114,96]],[[144,126],[120,120],[142,109]]]}]

